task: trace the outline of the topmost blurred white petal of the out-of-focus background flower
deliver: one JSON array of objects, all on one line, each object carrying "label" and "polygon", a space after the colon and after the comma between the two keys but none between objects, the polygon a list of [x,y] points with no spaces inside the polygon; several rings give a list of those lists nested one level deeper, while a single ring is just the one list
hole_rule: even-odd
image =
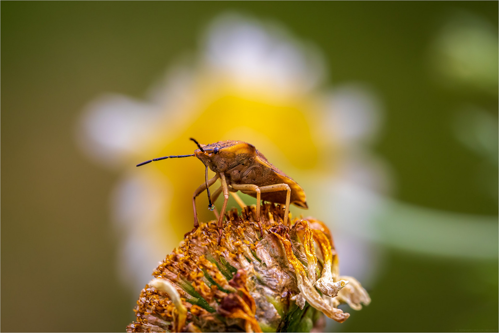
[{"label": "topmost blurred white petal of the out-of-focus background flower", "polygon": [[316,87],[324,73],[313,47],[287,36],[275,24],[263,25],[240,15],[217,19],[206,39],[205,61],[221,76],[251,87],[269,85],[273,93]]}]

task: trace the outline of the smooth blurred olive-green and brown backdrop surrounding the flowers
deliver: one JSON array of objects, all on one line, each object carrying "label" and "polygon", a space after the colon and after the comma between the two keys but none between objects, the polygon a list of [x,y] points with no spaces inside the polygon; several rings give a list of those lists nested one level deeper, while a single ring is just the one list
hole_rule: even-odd
[{"label": "smooth blurred olive-green and brown backdrop surrounding the flowers", "polygon": [[[121,332],[133,320],[139,291],[118,282],[109,222],[118,175],[82,155],[76,123],[103,92],[144,97],[227,10],[279,21],[313,41],[329,63],[329,84],[373,87],[385,107],[374,151],[392,169],[394,198],[497,216],[497,164],[462,144],[453,127],[463,105],[478,105],[497,124],[497,67],[485,88],[454,86],[435,78],[429,60],[435,36],[455,13],[480,17],[497,31],[497,1],[60,1],[1,8],[2,331]],[[372,304],[335,330],[498,330],[497,258],[384,251]]]}]

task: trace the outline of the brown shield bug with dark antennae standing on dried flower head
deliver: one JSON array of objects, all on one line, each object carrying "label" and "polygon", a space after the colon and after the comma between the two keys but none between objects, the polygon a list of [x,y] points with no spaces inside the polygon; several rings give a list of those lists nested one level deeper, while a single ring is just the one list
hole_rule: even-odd
[{"label": "brown shield bug with dark antennae standing on dried flower head", "polygon": [[[208,145],[201,145],[195,139],[198,149],[191,155],[170,155],[154,158],[137,164],[141,166],[153,161],[160,161],[167,158],[180,158],[196,156],[205,165],[205,184],[202,184],[194,191],[192,204],[194,209],[194,229],[198,226],[198,213],[196,211],[196,197],[207,190],[210,210],[215,209],[212,200],[215,201],[221,193],[224,194],[224,204],[218,215],[219,245],[222,239],[222,226],[229,192],[232,192],[236,201],[242,206],[246,205],[235,192],[249,194],[256,198],[256,221],[260,229],[260,236],[263,230],[260,224],[260,202],[268,201],[277,204],[284,204],[284,225],[287,225],[289,204],[307,209],[305,192],[291,177],[270,164],[256,148],[243,141],[219,141]],[[208,169],[215,172],[215,176],[208,179]],[[210,194],[210,186],[220,178],[222,185],[213,196]],[[192,232],[191,231],[191,232]]]}]

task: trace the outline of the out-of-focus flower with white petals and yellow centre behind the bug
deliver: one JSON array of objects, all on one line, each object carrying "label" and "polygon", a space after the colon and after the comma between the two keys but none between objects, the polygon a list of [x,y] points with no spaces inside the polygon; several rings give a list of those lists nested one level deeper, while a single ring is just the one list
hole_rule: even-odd
[{"label": "out-of-focus flower with white petals and yellow centre behind the bug", "polygon": [[[88,105],[79,123],[83,151],[121,174],[113,220],[121,235],[120,276],[134,290],[192,228],[192,213],[179,221],[173,212],[192,211],[192,193],[204,178],[200,163],[191,159],[135,164],[189,154],[195,149],[189,137],[254,144],[305,189],[309,212],[292,213],[315,215],[340,231],[342,225],[369,225],[377,209],[375,200],[352,189],[389,188],[386,168],[366,149],[381,123],[379,102],[361,85],[321,88],[326,65],[317,48],[275,23],[237,14],[214,20],[202,45],[194,63],[172,66],[148,100],[103,96]],[[203,200],[200,219],[213,219]],[[158,242],[145,244],[144,232]],[[378,252],[370,239],[346,237],[348,242],[335,238],[340,257],[349,256],[340,262],[341,271],[364,283],[372,269],[366,263],[376,263]],[[143,269],[132,269],[137,263]]]}]

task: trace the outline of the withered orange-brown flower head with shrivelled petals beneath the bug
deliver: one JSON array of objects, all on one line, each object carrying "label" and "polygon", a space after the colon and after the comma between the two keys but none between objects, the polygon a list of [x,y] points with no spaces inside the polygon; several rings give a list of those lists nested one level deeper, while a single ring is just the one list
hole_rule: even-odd
[{"label": "withered orange-brown flower head with shrivelled petals beneath the bug", "polygon": [[344,322],[369,304],[367,292],[341,277],[331,234],[313,218],[282,225],[280,205],[226,214],[221,246],[216,221],[203,223],[158,266],[142,290],[127,332],[309,332],[323,315]]}]

